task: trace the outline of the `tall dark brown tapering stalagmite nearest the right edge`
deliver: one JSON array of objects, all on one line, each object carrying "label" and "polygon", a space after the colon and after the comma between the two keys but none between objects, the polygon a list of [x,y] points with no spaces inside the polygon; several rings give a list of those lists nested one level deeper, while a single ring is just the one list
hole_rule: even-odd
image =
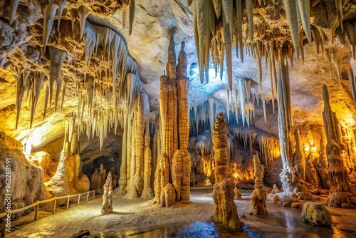
[{"label": "tall dark brown tapering stalagmite nearest the right edge", "polygon": [[339,121],[333,110],[331,110],[328,88],[325,85],[323,85],[323,100],[324,127],[326,138],[328,138],[328,144],[326,145],[330,181],[328,205],[330,207],[353,207],[351,200],[352,186],[350,185],[347,168],[343,164],[341,157],[341,150],[345,150],[345,145],[341,142]]}]

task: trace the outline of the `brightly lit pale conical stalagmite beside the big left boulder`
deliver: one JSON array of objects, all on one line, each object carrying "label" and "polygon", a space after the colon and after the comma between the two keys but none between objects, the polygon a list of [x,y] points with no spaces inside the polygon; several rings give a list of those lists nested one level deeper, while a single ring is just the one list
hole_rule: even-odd
[{"label": "brightly lit pale conical stalagmite beside the big left boulder", "polygon": [[[70,186],[68,181],[68,172],[66,170],[66,161],[66,152],[62,150],[56,174],[51,177],[51,180],[45,183],[49,194],[53,197],[62,197],[69,195]],[[64,203],[66,201],[61,202]]]}]

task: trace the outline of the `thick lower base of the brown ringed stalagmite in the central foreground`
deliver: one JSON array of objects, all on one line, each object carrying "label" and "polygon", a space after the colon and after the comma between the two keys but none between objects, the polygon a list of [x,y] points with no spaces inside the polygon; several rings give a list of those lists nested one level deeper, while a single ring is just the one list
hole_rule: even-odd
[{"label": "thick lower base of the brown ringed stalagmite in the central foreground", "polygon": [[214,185],[213,200],[215,209],[211,220],[234,229],[241,229],[243,223],[237,214],[237,207],[234,202],[234,187],[234,182],[226,179]]}]

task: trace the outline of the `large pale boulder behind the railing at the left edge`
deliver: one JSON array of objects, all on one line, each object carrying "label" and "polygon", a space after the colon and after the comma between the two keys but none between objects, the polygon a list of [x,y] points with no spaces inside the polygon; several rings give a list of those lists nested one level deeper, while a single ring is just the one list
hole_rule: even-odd
[{"label": "large pale boulder behind the railing at the left edge", "polygon": [[[43,170],[31,165],[26,160],[21,149],[21,143],[0,133],[0,209],[6,207],[6,194],[11,196],[11,209],[19,209],[31,205],[37,200],[46,199],[46,189],[43,185]],[[6,160],[9,159],[9,160]],[[6,161],[10,161],[6,162]],[[9,167],[9,165],[11,165]],[[10,168],[10,170],[6,170]],[[6,171],[11,171],[11,190],[7,190]],[[18,216],[19,214],[16,214]]]}]

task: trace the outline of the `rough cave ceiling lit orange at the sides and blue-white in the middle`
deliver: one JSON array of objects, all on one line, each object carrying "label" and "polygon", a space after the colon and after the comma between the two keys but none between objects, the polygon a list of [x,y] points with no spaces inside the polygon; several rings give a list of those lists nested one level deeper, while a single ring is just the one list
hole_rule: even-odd
[{"label": "rough cave ceiling lit orange at the sides and blue-white in the middle", "polygon": [[[9,14],[13,10],[12,4],[16,2],[19,2],[19,5],[15,14]],[[234,16],[233,21],[236,21],[236,2],[233,1],[234,7],[231,11],[231,16]],[[251,2],[253,40],[251,27],[248,26],[246,3],[242,1],[241,34],[244,39],[244,62],[241,62],[241,50],[239,47],[234,47],[236,43],[234,39],[231,49],[233,81],[229,85],[226,59],[222,79],[219,76],[220,71],[215,75],[214,63],[219,61],[216,59],[219,58],[219,52],[217,55],[214,52],[214,43],[210,49],[209,83],[204,78],[201,83],[199,56],[197,56],[196,43],[194,43],[196,1],[1,1],[1,129],[14,138],[22,140],[36,128],[41,128],[43,131],[37,133],[49,134],[46,140],[54,140],[63,135],[65,125],[61,122],[69,120],[70,113],[78,111],[79,116],[76,120],[82,120],[90,114],[90,109],[88,109],[80,115],[78,104],[94,109],[100,105],[100,110],[105,108],[108,110],[113,103],[116,103],[117,115],[120,116],[120,113],[125,113],[127,103],[124,101],[130,98],[126,73],[140,76],[132,80],[135,82],[132,87],[137,91],[143,90],[147,93],[150,110],[157,115],[159,113],[159,76],[166,69],[167,48],[171,36],[177,44],[177,52],[182,41],[185,42],[191,106],[204,103],[210,97],[226,105],[226,91],[229,87],[233,89],[233,92],[237,90],[239,78],[250,80],[253,86],[256,85],[256,93],[258,93],[257,91],[261,90],[257,87],[260,82],[258,61],[256,61],[258,52],[260,56],[265,56],[260,57],[262,58],[261,95],[264,100],[276,98],[271,90],[273,86],[271,88],[271,73],[268,68],[268,52],[271,53],[271,51],[267,50],[269,42],[273,42],[274,51],[276,48],[281,48],[283,54],[289,57],[290,93],[295,123],[304,123],[308,120],[322,125],[321,87],[326,83],[331,87],[331,103],[340,105],[335,109],[336,113],[345,115],[340,117],[340,120],[354,127],[355,109],[350,82],[347,78],[347,72],[351,70],[352,46],[348,38],[350,33],[346,36],[346,32],[349,31],[347,29],[345,31],[341,26],[351,24],[349,28],[354,29],[352,31],[354,39],[351,44],[354,47],[356,41],[355,2],[310,1],[310,34],[313,33],[313,38],[311,38],[312,35],[306,36],[309,34],[307,31],[305,33],[301,31],[303,35],[298,47],[302,48],[303,54],[298,53],[299,58],[293,51],[293,41],[284,10],[285,2],[295,1]],[[10,21],[13,21],[12,24]],[[224,35],[223,17],[219,16],[214,19],[214,24],[214,36],[211,35],[211,38],[217,42]],[[342,33],[342,30],[345,33]],[[317,49],[320,52],[317,52]],[[119,58],[115,58],[116,52],[120,52]],[[117,65],[117,68],[114,69],[113,65]],[[115,76],[117,80],[113,81],[112,78]],[[23,100],[16,130],[16,113],[19,106],[16,94],[19,95],[17,84],[18,78],[21,77],[25,90],[20,92],[20,94],[23,93]],[[28,89],[34,86],[25,85],[27,78],[31,78],[32,83],[36,81],[42,84],[35,88],[39,92],[38,95],[34,93],[35,96],[31,96],[33,92]],[[117,90],[112,90],[115,86]],[[48,103],[45,103],[46,90],[49,95],[52,94],[51,97],[48,96]],[[87,97],[90,90],[93,93],[91,103],[88,100],[90,97]],[[108,100],[108,98],[115,97],[116,102]],[[33,104],[36,111],[33,113],[31,125]],[[43,115],[45,111],[46,115]],[[154,118],[157,117],[152,116],[152,119]],[[276,125],[276,117],[271,116],[270,119],[274,120],[273,123]],[[260,120],[256,120],[256,124],[276,133],[276,126],[265,125]],[[51,133],[47,130],[51,130]],[[37,144],[43,145],[42,139],[38,140],[40,141]]]}]

